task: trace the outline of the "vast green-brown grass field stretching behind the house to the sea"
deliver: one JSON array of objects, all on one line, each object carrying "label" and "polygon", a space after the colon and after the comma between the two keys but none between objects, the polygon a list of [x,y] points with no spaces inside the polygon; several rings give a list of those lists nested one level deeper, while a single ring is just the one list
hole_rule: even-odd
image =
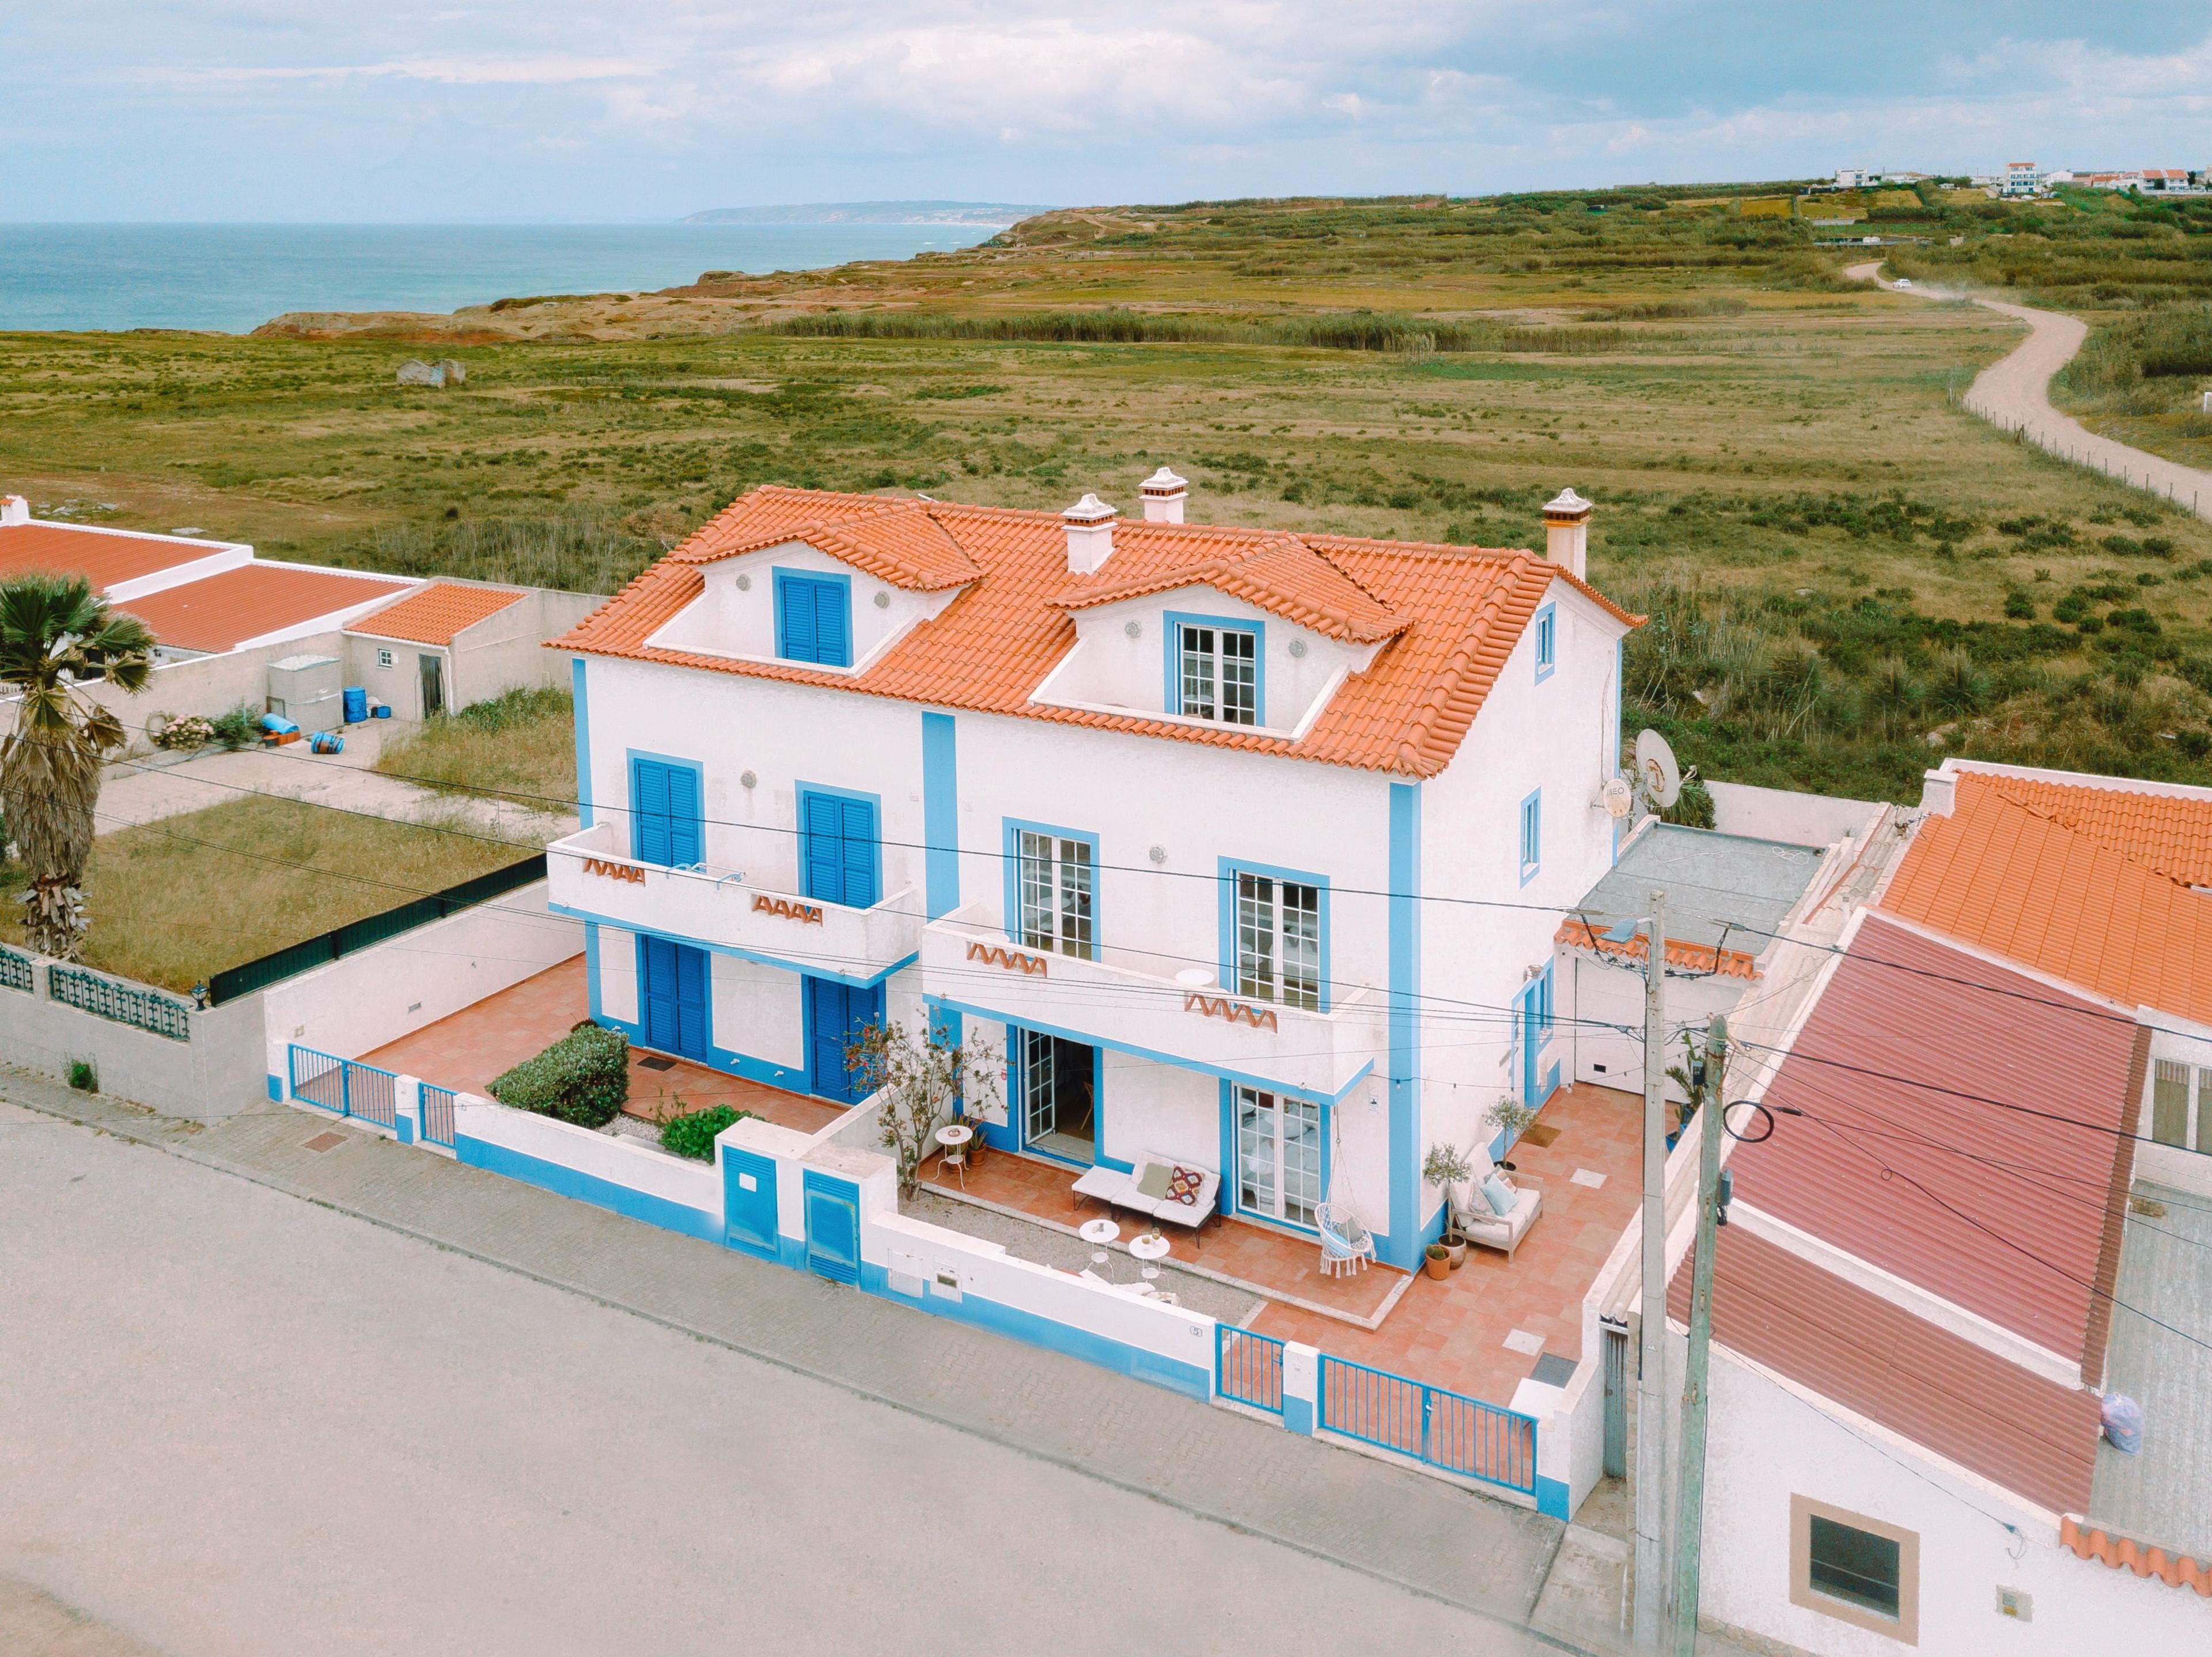
[{"label": "vast green-brown grass field stretching behind the house to the sea", "polygon": [[[1845,283],[1805,210],[1745,217],[1774,197],[1115,208],[641,299],[18,334],[0,478],[86,522],[588,591],[765,480],[1130,507],[1170,462],[1199,520],[1489,546],[1542,546],[1573,484],[1595,580],[1655,617],[1628,717],[1712,777],[2212,781],[2212,527],[1951,407],[2013,325]],[[1984,239],[2013,212],[1936,204]],[[425,338],[465,387],[392,383]]]}]

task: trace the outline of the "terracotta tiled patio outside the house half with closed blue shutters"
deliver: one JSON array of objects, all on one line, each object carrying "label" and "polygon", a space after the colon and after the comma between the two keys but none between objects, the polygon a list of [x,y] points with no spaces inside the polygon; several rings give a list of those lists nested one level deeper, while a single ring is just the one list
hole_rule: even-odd
[{"label": "terracotta tiled patio outside the house half with closed blue shutters", "polygon": [[[495,1075],[544,1051],[588,1013],[584,958],[573,956],[361,1057],[385,1071],[489,1097]],[[659,1069],[661,1064],[666,1069]],[[803,1093],[785,1093],[690,1060],[630,1049],[630,1102],[624,1106],[628,1115],[657,1122],[664,1113],[703,1111],[710,1104],[752,1111],[799,1133],[814,1133],[845,1113],[838,1104]]]}]

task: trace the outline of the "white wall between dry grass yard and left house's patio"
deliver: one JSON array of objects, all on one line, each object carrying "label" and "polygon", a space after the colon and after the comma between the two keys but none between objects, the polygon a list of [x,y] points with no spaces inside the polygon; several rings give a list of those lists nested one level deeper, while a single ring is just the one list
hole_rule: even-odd
[{"label": "white wall between dry grass yard and left house's patio", "polygon": [[285,1073],[290,1042],[361,1057],[582,951],[582,923],[546,911],[544,880],[403,931],[261,991],[268,1075]]}]

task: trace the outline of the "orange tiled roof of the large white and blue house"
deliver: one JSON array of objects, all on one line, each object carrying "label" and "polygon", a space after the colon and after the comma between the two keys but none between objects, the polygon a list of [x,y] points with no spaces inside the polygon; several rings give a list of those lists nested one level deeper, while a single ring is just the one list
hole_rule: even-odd
[{"label": "orange tiled roof of the large white and blue house", "polygon": [[[1071,577],[1066,524],[1053,511],[768,484],[726,507],[553,648],[1433,777],[1451,763],[1555,582],[1626,626],[1641,619],[1533,553],[1210,524],[1124,522],[1113,538],[1104,571]],[[646,644],[701,593],[699,564],[790,540],[852,557],[896,586],[967,591],[860,675]],[[1177,584],[1217,586],[1301,626],[1389,644],[1298,739],[1029,701],[1075,644],[1068,606]]]}]

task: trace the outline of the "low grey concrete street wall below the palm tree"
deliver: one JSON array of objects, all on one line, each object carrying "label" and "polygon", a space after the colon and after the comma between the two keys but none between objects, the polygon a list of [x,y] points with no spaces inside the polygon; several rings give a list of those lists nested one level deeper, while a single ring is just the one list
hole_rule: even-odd
[{"label": "low grey concrete street wall below the palm tree", "polygon": [[[84,1060],[102,1093],[197,1122],[234,1117],[265,1097],[259,996],[190,1013],[190,1040],[177,1042],[53,1000],[49,971],[60,962],[31,960],[29,993],[0,989],[0,1060],[7,1064],[66,1082],[71,1062]],[[146,989],[124,978],[113,982]]]}]

